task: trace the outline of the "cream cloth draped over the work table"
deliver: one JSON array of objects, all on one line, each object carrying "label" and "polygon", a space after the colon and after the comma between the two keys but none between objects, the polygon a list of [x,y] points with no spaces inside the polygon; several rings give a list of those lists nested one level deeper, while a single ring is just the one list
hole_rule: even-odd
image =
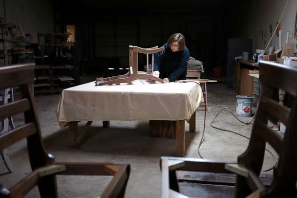
[{"label": "cream cloth draped over the work table", "polygon": [[61,128],[71,121],[185,120],[203,102],[196,83],[153,83],[95,86],[95,82],[66,88],[57,109]]}]

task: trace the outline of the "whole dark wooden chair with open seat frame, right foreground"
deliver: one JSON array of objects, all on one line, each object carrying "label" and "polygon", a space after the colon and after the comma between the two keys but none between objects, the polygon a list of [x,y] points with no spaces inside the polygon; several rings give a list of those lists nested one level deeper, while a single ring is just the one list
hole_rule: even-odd
[{"label": "whole dark wooden chair with open seat frame, right foreground", "polygon": [[[251,139],[237,163],[162,157],[162,198],[297,197],[297,69],[265,61],[259,69],[262,90]],[[274,100],[278,89],[291,95],[290,107]],[[284,136],[268,127],[268,120],[282,122]],[[273,175],[261,172],[266,143],[279,156]]]}]

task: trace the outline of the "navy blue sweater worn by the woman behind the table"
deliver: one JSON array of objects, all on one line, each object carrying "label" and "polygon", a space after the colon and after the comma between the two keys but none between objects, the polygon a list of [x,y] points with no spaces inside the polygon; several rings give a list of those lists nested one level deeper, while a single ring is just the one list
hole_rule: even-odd
[{"label": "navy blue sweater worn by the woman behind the table", "polygon": [[172,52],[167,43],[162,46],[165,47],[165,50],[154,55],[154,71],[160,71],[159,77],[161,79],[168,78],[169,82],[186,79],[190,57],[188,48]]}]

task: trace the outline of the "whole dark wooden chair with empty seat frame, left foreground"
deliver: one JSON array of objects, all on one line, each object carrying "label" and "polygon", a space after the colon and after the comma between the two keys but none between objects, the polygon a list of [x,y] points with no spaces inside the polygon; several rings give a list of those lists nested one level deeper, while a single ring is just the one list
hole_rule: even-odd
[{"label": "whole dark wooden chair with empty seat frame, left foreground", "polygon": [[[21,99],[0,106],[0,117],[7,118],[23,112],[25,124],[0,136],[0,150],[27,139],[29,161],[32,168],[27,176],[9,190],[0,185],[0,197],[23,197],[38,185],[42,198],[56,198],[56,175],[101,175],[113,176],[102,197],[124,197],[130,173],[129,165],[100,162],[55,162],[42,142],[38,116],[34,106],[31,84],[33,66],[0,67],[0,89],[19,86]],[[4,183],[5,185],[5,183]]]}]

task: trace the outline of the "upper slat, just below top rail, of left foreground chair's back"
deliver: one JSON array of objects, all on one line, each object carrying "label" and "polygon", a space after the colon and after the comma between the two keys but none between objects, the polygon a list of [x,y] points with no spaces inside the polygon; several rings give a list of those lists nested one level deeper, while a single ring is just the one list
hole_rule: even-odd
[{"label": "upper slat, just below top rail, of left foreground chair's back", "polygon": [[27,98],[0,106],[0,112],[3,112],[1,113],[3,118],[10,117],[30,109],[30,102]]}]

